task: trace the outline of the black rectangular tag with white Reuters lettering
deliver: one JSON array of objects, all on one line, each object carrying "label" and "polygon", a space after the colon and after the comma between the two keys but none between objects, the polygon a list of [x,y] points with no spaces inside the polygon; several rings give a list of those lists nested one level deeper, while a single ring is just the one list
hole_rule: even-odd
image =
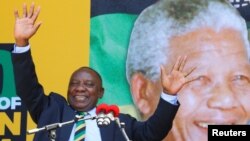
[{"label": "black rectangular tag with white Reuters lettering", "polygon": [[208,125],[208,141],[250,141],[250,125]]}]

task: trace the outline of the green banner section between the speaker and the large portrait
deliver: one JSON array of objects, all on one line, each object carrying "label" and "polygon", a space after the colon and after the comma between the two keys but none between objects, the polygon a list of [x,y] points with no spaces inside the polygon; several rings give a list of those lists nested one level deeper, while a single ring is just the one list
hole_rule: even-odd
[{"label": "green banner section between the speaker and the large portrait", "polygon": [[137,16],[105,14],[91,18],[90,66],[103,78],[104,97],[99,102],[133,104],[126,80],[126,54]]}]

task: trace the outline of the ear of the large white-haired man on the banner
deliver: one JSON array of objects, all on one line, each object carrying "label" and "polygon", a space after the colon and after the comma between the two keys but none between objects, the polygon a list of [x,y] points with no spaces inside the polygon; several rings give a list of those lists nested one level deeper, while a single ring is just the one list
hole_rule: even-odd
[{"label": "ear of the large white-haired man on the banner", "polygon": [[147,94],[148,85],[149,81],[141,73],[133,74],[130,80],[130,89],[134,104],[143,115],[147,115],[151,111],[150,98]]}]

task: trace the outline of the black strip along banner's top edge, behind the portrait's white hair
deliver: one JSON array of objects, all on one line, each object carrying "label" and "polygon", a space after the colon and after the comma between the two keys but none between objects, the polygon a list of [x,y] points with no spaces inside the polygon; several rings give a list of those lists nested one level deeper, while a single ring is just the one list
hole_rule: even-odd
[{"label": "black strip along banner's top edge, behind the portrait's white hair", "polygon": [[[91,0],[91,17],[103,14],[139,14],[158,0]],[[230,0],[246,21],[250,21],[249,0]]]}]

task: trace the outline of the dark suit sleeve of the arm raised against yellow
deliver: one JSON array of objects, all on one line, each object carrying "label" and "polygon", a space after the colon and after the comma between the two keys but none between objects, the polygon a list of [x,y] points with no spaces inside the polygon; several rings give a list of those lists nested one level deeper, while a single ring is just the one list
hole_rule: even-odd
[{"label": "dark suit sleeve of the arm raised against yellow", "polygon": [[48,105],[48,97],[38,82],[31,51],[20,54],[12,53],[12,62],[17,95],[28,108],[33,121],[37,123],[41,112]]}]

